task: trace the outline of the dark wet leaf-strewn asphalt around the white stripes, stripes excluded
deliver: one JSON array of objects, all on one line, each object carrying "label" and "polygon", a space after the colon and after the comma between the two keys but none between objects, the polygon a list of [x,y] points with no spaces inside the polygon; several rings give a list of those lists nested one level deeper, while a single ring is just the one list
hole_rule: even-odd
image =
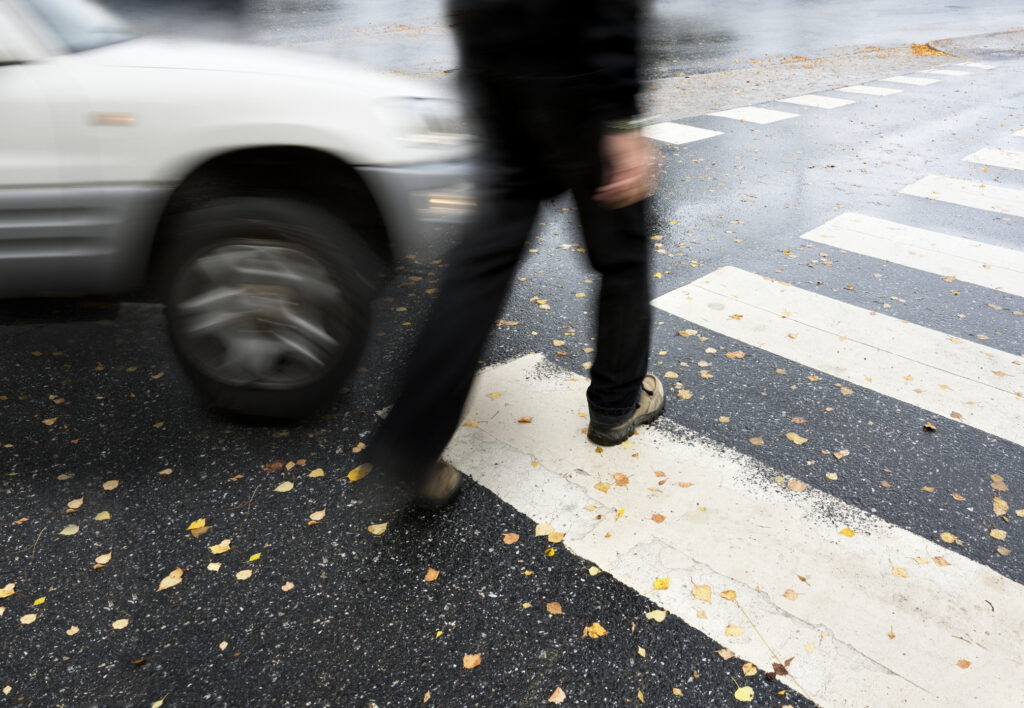
[{"label": "dark wet leaf-strewn asphalt around the white stripes, stripes excluded", "polygon": [[[977,43],[958,50],[986,58]],[[824,91],[858,99],[830,112],[763,103],[801,114],[767,126],[689,118],[725,134],[660,148],[652,235],[663,238],[652,242],[651,272],[663,277],[653,294],[734,265],[1024,352],[1020,298],[855,254],[828,252],[826,264],[827,248],[799,238],[851,210],[1019,249],[1018,217],[898,192],[929,173],[980,177],[963,156],[1011,147],[1010,132],[1024,125],[1021,57],[988,56],[997,70],[895,96]],[[1024,186],[1020,174],[988,169]],[[518,324],[496,328],[484,363],[544,351],[586,374],[596,293],[574,221],[563,201],[539,217],[536,253],[502,316]],[[651,602],[535,538],[534,520],[472,482],[429,515],[394,508],[373,475],[347,481],[443,273],[435,255],[403,259],[347,390],[289,426],[208,410],[156,305],[0,307],[0,587],[16,583],[0,599],[4,705],[402,706],[428,692],[428,705],[546,705],[560,688],[565,705],[703,707],[736,705],[739,685],[755,689],[751,705],[812,705],[761,672],[745,676],[741,661],[723,659],[681,619],[646,619]],[[923,537],[953,533],[964,544],[953,552],[1024,582],[1015,528],[1024,519],[1011,517],[1006,541],[989,535],[1002,524],[991,513],[990,474],[1006,477],[1011,508],[1024,507],[1020,447],[866,388],[843,395],[838,379],[714,333],[680,337],[693,325],[667,314],[655,311],[655,323],[651,370],[680,372],[694,393],[670,400],[673,421]],[[574,345],[558,357],[550,342],[567,333]],[[701,379],[696,362],[709,346],[748,356],[712,357],[715,378]],[[813,449],[781,438],[794,417],[806,421],[800,432]],[[926,421],[938,430],[924,430]],[[766,444],[752,446],[756,435]],[[819,448],[851,454],[836,460]],[[285,482],[291,491],[273,491]],[[97,518],[103,511],[109,519]],[[194,537],[187,527],[201,518],[209,531]],[[385,520],[382,536],[368,533]],[[59,534],[72,524],[77,533]],[[507,533],[520,540],[505,544]],[[230,550],[211,553],[228,538]],[[104,553],[111,559],[96,563]],[[181,582],[159,590],[175,569]],[[439,575],[425,582],[429,569]],[[551,601],[561,614],[547,611]],[[116,629],[117,620],[128,623]],[[584,636],[593,622],[607,635]],[[463,668],[474,654],[480,665]]]}]

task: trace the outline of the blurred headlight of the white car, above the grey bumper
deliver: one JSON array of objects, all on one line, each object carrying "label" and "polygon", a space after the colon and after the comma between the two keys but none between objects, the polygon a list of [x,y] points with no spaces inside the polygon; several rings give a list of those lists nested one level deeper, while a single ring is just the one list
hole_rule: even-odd
[{"label": "blurred headlight of the white car, above the grey bumper", "polygon": [[402,142],[453,148],[470,140],[458,101],[443,98],[387,98],[378,101],[381,120]]}]

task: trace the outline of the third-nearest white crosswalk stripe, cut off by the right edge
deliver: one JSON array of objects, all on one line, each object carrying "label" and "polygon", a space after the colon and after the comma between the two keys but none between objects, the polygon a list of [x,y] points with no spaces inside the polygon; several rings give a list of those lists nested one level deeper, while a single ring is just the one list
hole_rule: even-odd
[{"label": "third-nearest white crosswalk stripe, cut off by the right edge", "polygon": [[852,211],[800,238],[1024,297],[1024,251]]}]

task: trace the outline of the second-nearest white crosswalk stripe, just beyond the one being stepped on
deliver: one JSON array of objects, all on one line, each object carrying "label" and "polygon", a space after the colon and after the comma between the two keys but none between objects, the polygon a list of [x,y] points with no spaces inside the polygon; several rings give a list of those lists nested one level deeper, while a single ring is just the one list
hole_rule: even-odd
[{"label": "second-nearest white crosswalk stripe, just beyond the one being stepped on", "polygon": [[1024,445],[1024,362],[1005,351],[731,266],[662,295],[653,304]]}]

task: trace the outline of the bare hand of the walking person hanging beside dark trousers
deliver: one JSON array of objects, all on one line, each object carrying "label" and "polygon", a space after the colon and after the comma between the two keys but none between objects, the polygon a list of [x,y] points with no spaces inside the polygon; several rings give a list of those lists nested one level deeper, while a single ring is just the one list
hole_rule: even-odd
[{"label": "bare hand of the walking person hanging beside dark trousers", "polygon": [[594,201],[608,209],[622,209],[645,199],[654,189],[654,153],[639,130],[601,137],[605,165]]}]

